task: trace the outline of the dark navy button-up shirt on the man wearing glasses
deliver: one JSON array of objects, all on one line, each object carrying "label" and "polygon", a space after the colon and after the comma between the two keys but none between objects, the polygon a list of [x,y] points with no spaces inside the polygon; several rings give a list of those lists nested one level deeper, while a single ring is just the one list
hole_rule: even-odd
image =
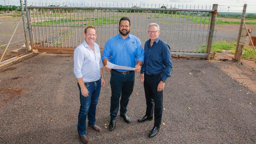
[{"label": "dark navy button-up shirt on the man wearing glasses", "polygon": [[159,37],[150,46],[150,39],[145,42],[145,60],[141,68],[141,74],[160,74],[163,72],[162,80],[171,77],[172,60],[170,48],[165,41]]}]

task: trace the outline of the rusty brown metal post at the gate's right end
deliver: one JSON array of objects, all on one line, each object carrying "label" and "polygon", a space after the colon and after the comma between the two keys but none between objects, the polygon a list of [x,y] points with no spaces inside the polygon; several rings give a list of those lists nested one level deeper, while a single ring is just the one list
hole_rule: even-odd
[{"label": "rusty brown metal post at the gate's right end", "polygon": [[214,34],[214,28],[215,28],[215,20],[217,17],[217,10],[218,10],[218,4],[213,4],[212,9],[214,10],[214,13],[211,13],[211,23],[210,23],[210,31],[208,34],[207,39],[207,45],[206,45],[206,52],[208,53],[207,60],[210,60],[211,56],[211,45],[213,41],[213,34]]}]

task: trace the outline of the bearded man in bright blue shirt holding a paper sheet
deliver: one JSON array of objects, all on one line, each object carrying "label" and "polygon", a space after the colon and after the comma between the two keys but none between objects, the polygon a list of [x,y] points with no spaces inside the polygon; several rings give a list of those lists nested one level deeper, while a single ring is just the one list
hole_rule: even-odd
[{"label": "bearded man in bright blue shirt holding a paper sheet", "polygon": [[134,71],[110,69],[107,62],[115,65],[134,67],[135,72],[141,70],[144,52],[139,38],[130,34],[130,19],[122,17],[119,21],[119,34],[111,37],[104,46],[102,61],[107,72],[111,72],[111,103],[109,130],[115,128],[120,100],[120,116],[127,123],[131,122],[127,115],[127,105],[134,89]]}]

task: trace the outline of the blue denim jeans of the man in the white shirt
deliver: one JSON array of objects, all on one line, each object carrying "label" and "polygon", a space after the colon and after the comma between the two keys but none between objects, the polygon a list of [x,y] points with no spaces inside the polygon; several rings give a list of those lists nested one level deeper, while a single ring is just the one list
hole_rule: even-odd
[{"label": "blue denim jeans of the man in the white shirt", "polygon": [[84,84],[89,91],[89,96],[82,96],[81,88],[78,85],[80,90],[80,110],[78,114],[77,132],[80,136],[86,135],[86,116],[88,118],[88,126],[95,126],[96,105],[100,95],[101,81],[99,79],[98,81]]}]

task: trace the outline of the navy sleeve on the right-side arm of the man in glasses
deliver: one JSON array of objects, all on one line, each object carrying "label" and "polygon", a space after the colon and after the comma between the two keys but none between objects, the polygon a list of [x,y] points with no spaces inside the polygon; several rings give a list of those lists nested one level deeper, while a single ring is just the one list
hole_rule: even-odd
[{"label": "navy sleeve on the right-side arm of the man in glasses", "polygon": [[171,77],[171,69],[173,68],[172,60],[171,60],[171,52],[167,44],[164,44],[162,57],[163,57],[163,65],[165,66],[162,79],[166,80],[167,77]]}]

